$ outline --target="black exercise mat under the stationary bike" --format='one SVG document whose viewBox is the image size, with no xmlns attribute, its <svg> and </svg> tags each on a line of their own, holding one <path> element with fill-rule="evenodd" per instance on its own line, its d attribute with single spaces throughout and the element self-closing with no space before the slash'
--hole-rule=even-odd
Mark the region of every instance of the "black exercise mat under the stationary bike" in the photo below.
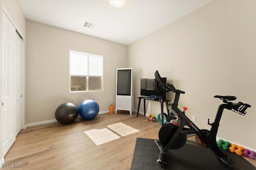
<svg viewBox="0 0 256 170">
<path fill-rule="evenodd" d="M 159 165 L 160 150 L 154 139 L 137 138 L 132 158 L 131 170 L 231 170 L 220 161 L 209 148 L 185 144 L 177 150 L 169 150 L 166 166 Z M 236 164 L 244 170 L 256 170 L 247 160 L 229 151 L 225 151 Z"/>
</svg>

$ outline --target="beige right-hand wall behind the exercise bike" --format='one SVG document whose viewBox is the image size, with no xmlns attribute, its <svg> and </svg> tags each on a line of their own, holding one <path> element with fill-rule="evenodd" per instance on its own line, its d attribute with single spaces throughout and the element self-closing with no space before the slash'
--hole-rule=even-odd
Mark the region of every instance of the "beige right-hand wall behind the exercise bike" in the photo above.
<svg viewBox="0 0 256 170">
<path fill-rule="evenodd" d="M 158 70 L 168 83 L 186 93 L 179 107 L 210 130 L 222 102 L 214 95 L 234 95 L 252 105 L 245 116 L 225 110 L 218 137 L 256 149 L 256 1 L 217 0 L 128 45 L 128 67 L 134 69 L 134 109 L 140 78 Z M 173 102 L 174 95 L 168 93 Z M 140 107 L 143 112 L 143 107 Z M 166 111 L 166 109 L 165 109 Z M 147 103 L 158 115 L 160 104 Z"/>
</svg>

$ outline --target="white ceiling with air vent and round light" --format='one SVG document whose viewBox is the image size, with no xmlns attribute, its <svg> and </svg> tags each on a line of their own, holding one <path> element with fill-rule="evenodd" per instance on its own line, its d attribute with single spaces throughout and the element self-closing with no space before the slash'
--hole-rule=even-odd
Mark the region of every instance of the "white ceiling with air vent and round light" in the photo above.
<svg viewBox="0 0 256 170">
<path fill-rule="evenodd" d="M 18 0 L 26 19 L 128 45 L 212 0 Z M 96 24 L 84 27 L 85 21 Z"/>
</svg>

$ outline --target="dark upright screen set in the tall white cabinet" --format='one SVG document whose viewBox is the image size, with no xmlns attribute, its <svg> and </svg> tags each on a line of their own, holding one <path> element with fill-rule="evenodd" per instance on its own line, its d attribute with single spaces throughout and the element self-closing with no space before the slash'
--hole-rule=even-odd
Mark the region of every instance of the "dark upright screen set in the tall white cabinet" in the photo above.
<svg viewBox="0 0 256 170">
<path fill-rule="evenodd" d="M 117 95 L 131 95 L 131 69 L 118 70 Z"/>
</svg>

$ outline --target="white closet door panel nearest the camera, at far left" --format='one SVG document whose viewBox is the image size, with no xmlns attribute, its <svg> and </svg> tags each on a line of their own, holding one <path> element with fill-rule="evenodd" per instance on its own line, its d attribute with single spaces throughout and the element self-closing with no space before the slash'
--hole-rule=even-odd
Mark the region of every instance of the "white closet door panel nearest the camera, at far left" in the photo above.
<svg viewBox="0 0 256 170">
<path fill-rule="evenodd" d="M 15 34 L 16 29 L 3 12 L 3 61 L 2 61 L 2 127 L 3 156 L 16 139 L 16 65 L 15 65 Z"/>
</svg>

